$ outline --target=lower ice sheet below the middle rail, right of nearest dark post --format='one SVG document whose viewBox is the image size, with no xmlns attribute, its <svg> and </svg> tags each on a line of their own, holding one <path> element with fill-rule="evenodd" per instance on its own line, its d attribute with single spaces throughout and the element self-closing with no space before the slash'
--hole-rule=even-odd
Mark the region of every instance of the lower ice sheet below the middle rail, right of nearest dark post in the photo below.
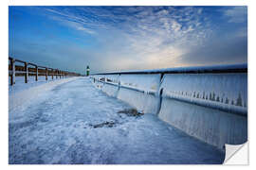
<svg viewBox="0 0 256 170">
<path fill-rule="evenodd" d="M 189 135 L 224 149 L 247 142 L 247 117 L 164 98 L 159 118 Z"/>
</svg>

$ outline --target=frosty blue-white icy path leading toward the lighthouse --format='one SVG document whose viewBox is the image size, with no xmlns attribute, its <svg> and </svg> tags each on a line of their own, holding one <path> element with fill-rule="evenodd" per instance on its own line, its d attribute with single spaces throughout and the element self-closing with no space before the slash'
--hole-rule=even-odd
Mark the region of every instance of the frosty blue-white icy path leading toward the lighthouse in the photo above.
<svg viewBox="0 0 256 170">
<path fill-rule="evenodd" d="M 153 114 L 118 113 L 130 108 L 86 77 L 58 84 L 9 110 L 9 163 L 223 162 L 223 153 Z"/>
</svg>

